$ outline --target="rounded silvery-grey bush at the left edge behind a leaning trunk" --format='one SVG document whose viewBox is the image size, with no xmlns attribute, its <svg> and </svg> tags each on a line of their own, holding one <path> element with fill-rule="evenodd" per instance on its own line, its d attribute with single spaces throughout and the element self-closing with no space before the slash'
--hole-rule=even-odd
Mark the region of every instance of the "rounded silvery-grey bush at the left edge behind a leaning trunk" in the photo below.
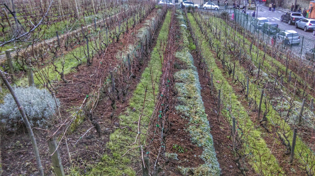
<svg viewBox="0 0 315 176">
<path fill-rule="evenodd" d="M 19 87 L 14 88 L 14 91 L 31 126 L 47 128 L 56 110 L 56 103 L 51 94 L 45 89 L 35 87 Z M 5 95 L 3 102 L 0 104 L 1 123 L 6 126 L 7 130 L 17 130 L 23 120 L 12 95 L 10 93 Z M 58 99 L 57 104 L 60 104 Z"/>
</svg>

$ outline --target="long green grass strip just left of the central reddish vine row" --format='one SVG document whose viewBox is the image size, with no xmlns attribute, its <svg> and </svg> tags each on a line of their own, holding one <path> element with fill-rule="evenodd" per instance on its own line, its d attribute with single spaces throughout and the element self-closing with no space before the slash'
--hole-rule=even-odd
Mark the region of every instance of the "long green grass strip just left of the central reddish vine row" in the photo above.
<svg viewBox="0 0 315 176">
<path fill-rule="evenodd" d="M 164 36 L 168 35 L 169 23 L 170 20 L 170 13 L 168 12 L 165 18 L 165 22 L 163 23 L 162 29 L 158 35 L 158 43 L 157 46 L 161 45 L 161 39 Z M 154 50 L 151 52 L 151 64 L 153 68 L 154 80 L 156 79 L 159 82 L 159 78 L 161 75 L 161 60 L 159 56 L 159 52 L 157 48 L 154 47 Z M 146 67 L 144 72 L 141 75 L 141 83 L 139 83 L 133 93 L 132 98 L 130 99 L 130 108 L 126 111 L 125 114 L 129 115 L 120 115 L 120 125 L 126 126 L 128 125 L 133 130 L 136 130 L 137 125 L 134 124 L 134 121 L 137 121 L 139 118 L 140 110 L 142 109 L 144 95 L 145 95 L 145 87 L 143 85 L 148 85 L 147 92 L 152 92 L 152 83 L 151 83 L 151 74 L 150 68 Z M 151 86 L 150 86 L 151 85 Z M 155 93 L 158 92 L 158 89 L 155 89 Z M 150 116 L 154 109 L 154 97 L 152 93 L 146 94 L 146 101 L 145 101 L 145 109 L 143 110 L 143 114 Z M 131 109 L 135 108 L 136 111 L 132 111 Z M 147 125 L 149 122 L 148 118 L 143 118 L 141 123 L 143 125 Z M 145 131 L 143 131 L 145 132 Z M 123 132 L 123 130 L 115 130 L 110 135 L 110 140 L 107 143 L 107 148 L 109 149 L 109 153 L 102 157 L 102 161 L 99 162 L 96 166 L 93 166 L 91 171 L 87 173 L 90 176 L 96 175 L 136 175 L 133 168 L 130 166 L 132 162 L 139 162 L 138 161 L 138 154 L 135 151 L 128 152 L 124 157 L 122 155 L 133 146 L 129 146 L 130 143 L 133 143 L 135 140 L 135 134 Z M 135 153 L 134 153 L 135 152 Z"/>
</svg>

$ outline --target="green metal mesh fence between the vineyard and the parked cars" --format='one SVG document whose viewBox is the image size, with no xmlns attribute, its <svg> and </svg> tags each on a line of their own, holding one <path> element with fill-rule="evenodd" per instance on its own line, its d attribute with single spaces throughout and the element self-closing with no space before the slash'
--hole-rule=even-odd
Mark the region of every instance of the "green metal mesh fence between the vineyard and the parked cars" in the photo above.
<svg viewBox="0 0 315 176">
<path fill-rule="evenodd" d="M 311 49 L 315 48 L 315 40 L 298 34 L 291 34 L 289 38 L 285 40 L 285 37 L 280 35 L 282 32 L 286 31 L 285 29 L 264 24 L 255 17 L 242 13 L 242 11 L 238 9 L 234 9 L 233 12 L 236 23 L 240 24 L 252 34 L 258 35 L 259 39 L 265 41 L 266 44 L 274 45 L 281 51 L 289 50 L 291 51 L 290 53 L 294 54 L 296 57 L 311 61 L 314 60 L 314 52 L 313 50 L 311 51 Z"/>
</svg>

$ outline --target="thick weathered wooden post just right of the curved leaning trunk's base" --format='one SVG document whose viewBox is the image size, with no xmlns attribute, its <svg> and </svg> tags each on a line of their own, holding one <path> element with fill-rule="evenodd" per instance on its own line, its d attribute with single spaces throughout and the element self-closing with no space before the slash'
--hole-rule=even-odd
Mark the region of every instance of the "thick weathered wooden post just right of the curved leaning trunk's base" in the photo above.
<svg viewBox="0 0 315 176">
<path fill-rule="evenodd" d="M 54 167 L 54 172 L 56 173 L 57 176 L 65 176 L 55 137 L 54 136 L 50 137 L 47 142 L 49 153 L 51 155 L 51 160 Z"/>
</svg>

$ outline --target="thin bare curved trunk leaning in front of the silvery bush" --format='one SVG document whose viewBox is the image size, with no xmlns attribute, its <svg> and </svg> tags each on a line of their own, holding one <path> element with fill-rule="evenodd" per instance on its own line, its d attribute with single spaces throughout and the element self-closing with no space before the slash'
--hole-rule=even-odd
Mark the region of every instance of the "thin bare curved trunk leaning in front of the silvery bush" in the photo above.
<svg viewBox="0 0 315 176">
<path fill-rule="evenodd" d="M 12 3 L 13 3 L 13 0 L 12 0 Z M 33 134 L 30 122 L 28 121 L 28 119 L 26 117 L 26 114 L 24 112 L 24 108 L 23 108 L 23 106 L 21 106 L 19 99 L 17 98 L 17 96 L 16 96 L 13 88 L 9 84 L 8 80 L 4 77 L 2 71 L 0 71 L 0 77 L 3 80 L 4 84 L 7 86 L 7 88 L 9 89 L 9 91 L 10 91 L 10 93 L 11 93 L 11 95 L 12 95 L 12 97 L 13 97 L 15 103 L 16 103 L 16 105 L 18 106 L 18 109 L 19 109 L 19 111 L 20 111 L 20 113 L 22 115 L 22 119 L 23 119 L 23 121 L 24 121 L 24 123 L 26 125 L 26 129 L 28 131 L 28 134 L 30 135 L 30 138 L 31 138 L 31 143 L 32 143 L 33 149 L 34 149 L 34 154 L 35 154 L 35 158 L 36 158 L 38 171 L 39 171 L 41 176 L 44 176 L 43 166 L 42 166 L 42 162 L 40 160 L 36 139 L 35 139 L 35 136 Z"/>
</svg>

